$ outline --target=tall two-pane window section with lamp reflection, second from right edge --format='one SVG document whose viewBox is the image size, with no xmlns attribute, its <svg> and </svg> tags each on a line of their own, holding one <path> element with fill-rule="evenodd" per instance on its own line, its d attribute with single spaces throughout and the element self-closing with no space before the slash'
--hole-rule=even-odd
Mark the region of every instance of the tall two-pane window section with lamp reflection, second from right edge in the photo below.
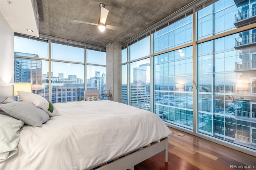
<svg viewBox="0 0 256 170">
<path fill-rule="evenodd" d="M 192 15 L 153 34 L 154 53 L 192 42 Z M 192 46 L 154 56 L 154 113 L 193 128 Z"/>
</svg>

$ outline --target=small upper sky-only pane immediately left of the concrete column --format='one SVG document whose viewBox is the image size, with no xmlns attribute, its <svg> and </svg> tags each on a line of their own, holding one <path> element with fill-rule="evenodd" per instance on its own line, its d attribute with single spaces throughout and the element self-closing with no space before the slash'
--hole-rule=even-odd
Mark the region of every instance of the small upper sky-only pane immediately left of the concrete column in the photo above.
<svg viewBox="0 0 256 170">
<path fill-rule="evenodd" d="M 95 50 L 86 50 L 86 62 L 90 64 L 106 65 L 106 53 Z"/>
</svg>

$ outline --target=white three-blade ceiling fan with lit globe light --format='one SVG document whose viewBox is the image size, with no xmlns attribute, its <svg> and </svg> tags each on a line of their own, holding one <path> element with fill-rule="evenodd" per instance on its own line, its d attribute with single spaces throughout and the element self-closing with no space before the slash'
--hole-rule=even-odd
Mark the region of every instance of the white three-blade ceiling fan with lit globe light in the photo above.
<svg viewBox="0 0 256 170">
<path fill-rule="evenodd" d="M 105 8 L 105 4 L 103 4 L 103 3 L 100 3 L 99 6 L 100 6 L 100 19 L 99 19 L 98 24 L 94 24 L 91 22 L 78 21 L 78 20 L 73 20 L 73 22 L 98 26 L 98 29 L 100 30 L 100 32 L 104 32 L 106 28 L 111 29 L 111 30 L 120 31 L 120 32 L 126 32 L 127 28 L 106 25 L 105 23 L 106 23 L 106 19 L 108 17 L 108 10 Z"/>
</svg>

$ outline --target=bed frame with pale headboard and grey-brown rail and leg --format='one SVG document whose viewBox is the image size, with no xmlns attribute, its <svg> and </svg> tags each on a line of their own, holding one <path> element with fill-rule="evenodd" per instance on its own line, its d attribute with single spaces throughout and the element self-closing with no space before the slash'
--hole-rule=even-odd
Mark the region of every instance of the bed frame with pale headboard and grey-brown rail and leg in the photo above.
<svg viewBox="0 0 256 170">
<path fill-rule="evenodd" d="M 4 101 L 7 97 L 13 99 L 13 86 L 0 86 L 0 102 Z M 147 146 L 138 148 L 133 152 L 119 156 L 114 160 L 110 160 L 102 165 L 90 168 L 91 170 L 133 170 L 134 166 L 159 152 L 165 152 L 165 162 L 168 162 L 168 144 L 169 139 L 163 138 L 160 142 L 153 142 Z"/>
</svg>

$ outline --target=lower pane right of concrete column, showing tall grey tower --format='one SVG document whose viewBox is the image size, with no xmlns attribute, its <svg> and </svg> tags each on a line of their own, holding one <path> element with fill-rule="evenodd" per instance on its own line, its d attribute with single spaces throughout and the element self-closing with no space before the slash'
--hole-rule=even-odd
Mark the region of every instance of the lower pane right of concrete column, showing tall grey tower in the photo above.
<svg viewBox="0 0 256 170">
<path fill-rule="evenodd" d="M 150 59 L 130 64 L 130 105 L 150 111 Z"/>
</svg>

